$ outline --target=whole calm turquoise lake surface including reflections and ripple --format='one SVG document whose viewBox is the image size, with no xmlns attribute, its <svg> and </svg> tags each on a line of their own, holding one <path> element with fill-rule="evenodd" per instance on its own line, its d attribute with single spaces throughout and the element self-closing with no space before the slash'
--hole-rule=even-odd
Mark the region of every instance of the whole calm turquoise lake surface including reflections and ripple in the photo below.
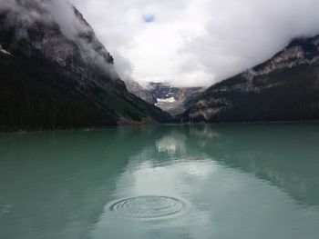
<svg viewBox="0 0 319 239">
<path fill-rule="evenodd" d="M 1 239 L 317 239 L 319 124 L 0 134 Z"/>
</svg>

